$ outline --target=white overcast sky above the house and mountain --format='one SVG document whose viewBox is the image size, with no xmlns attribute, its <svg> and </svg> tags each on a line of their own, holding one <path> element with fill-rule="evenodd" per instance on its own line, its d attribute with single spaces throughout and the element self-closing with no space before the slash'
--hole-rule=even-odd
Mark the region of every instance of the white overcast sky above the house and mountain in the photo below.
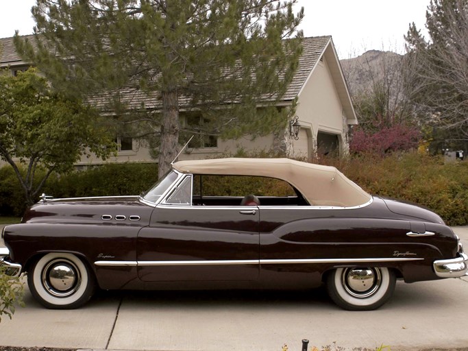
<svg viewBox="0 0 468 351">
<path fill-rule="evenodd" d="M 404 34 L 415 22 L 426 23 L 430 0 L 299 0 L 305 18 L 305 36 L 331 35 L 339 58 L 351 58 L 367 50 L 404 52 Z M 32 34 L 31 7 L 35 0 L 0 0 L 0 38 Z"/>
</svg>

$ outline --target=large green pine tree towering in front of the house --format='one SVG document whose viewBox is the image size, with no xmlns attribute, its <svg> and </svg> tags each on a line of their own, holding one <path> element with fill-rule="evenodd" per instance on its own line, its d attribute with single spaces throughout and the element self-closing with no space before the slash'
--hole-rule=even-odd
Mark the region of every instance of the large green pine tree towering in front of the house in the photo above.
<svg viewBox="0 0 468 351">
<path fill-rule="evenodd" d="M 147 138 L 162 175 L 187 134 L 286 126 L 292 112 L 276 106 L 301 54 L 296 2 L 37 0 L 35 41 L 16 35 L 15 45 L 55 88 L 86 95 L 119 117 L 121 133 Z M 181 125 L 181 111 L 197 126 Z"/>
</svg>

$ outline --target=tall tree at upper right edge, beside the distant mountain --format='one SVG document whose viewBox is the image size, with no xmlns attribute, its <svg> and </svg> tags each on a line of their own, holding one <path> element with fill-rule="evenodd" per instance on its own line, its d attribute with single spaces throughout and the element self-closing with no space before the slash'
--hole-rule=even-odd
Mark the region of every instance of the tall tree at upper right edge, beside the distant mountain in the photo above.
<svg viewBox="0 0 468 351">
<path fill-rule="evenodd" d="M 408 51 L 406 95 L 426 124 L 445 129 L 452 139 L 466 142 L 468 1 L 430 1 L 426 27 L 428 38 L 414 23 L 405 36 Z"/>
</svg>

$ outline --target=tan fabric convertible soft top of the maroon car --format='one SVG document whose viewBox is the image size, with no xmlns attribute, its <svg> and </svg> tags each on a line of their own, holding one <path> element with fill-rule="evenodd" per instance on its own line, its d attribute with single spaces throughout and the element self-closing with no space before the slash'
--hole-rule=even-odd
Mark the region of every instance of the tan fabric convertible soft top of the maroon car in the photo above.
<svg viewBox="0 0 468 351">
<path fill-rule="evenodd" d="M 335 167 L 314 165 L 288 158 L 219 158 L 187 160 L 173 164 L 182 173 L 258 175 L 278 178 L 293 185 L 315 206 L 352 207 L 366 204 L 371 195 Z"/>
</svg>

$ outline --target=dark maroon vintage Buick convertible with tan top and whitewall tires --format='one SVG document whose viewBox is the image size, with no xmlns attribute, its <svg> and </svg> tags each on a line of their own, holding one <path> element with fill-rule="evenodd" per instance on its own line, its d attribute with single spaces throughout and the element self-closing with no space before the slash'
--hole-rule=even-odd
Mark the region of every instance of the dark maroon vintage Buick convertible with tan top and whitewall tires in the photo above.
<svg viewBox="0 0 468 351">
<path fill-rule="evenodd" d="M 4 228 L 1 265 L 48 308 L 101 289 L 310 289 L 378 308 L 395 280 L 456 278 L 441 217 L 371 196 L 334 167 L 285 158 L 175 162 L 134 197 L 48 199 Z"/>
</svg>

